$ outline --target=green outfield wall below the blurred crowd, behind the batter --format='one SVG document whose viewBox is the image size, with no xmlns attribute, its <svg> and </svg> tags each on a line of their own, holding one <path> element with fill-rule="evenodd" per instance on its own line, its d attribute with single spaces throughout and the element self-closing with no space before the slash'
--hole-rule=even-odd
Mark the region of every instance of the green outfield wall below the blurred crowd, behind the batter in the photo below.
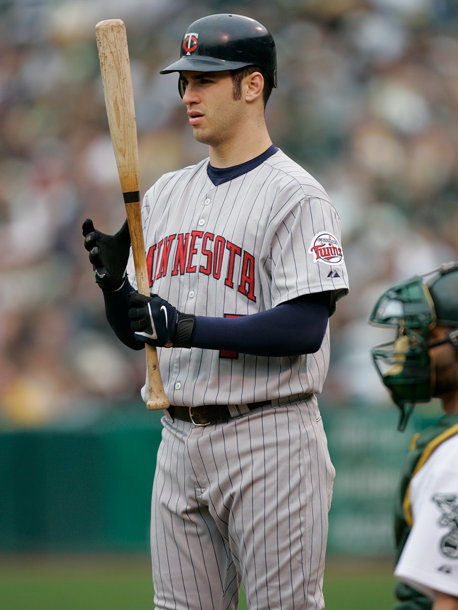
<svg viewBox="0 0 458 610">
<path fill-rule="evenodd" d="M 392 551 L 398 469 L 413 432 L 393 407 L 321 406 L 337 476 L 330 553 Z M 435 414 L 432 414 L 435 416 Z M 145 551 L 160 414 L 129 404 L 91 422 L 0 431 L 0 551 Z"/>
</svg>

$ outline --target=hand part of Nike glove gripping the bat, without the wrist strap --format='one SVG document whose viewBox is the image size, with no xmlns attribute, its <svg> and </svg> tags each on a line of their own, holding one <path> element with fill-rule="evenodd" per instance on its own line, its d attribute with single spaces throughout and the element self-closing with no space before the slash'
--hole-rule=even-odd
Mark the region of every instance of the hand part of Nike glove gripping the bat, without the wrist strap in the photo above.
<svg viewBox="0 0 458 610">
<path fill-rule="evenodd" d="M 130 292 L 129 320 L 135 339 L 156 347 L 171 347 L 176 334 L 178 311 L 159 295 Z"/>
</svg>

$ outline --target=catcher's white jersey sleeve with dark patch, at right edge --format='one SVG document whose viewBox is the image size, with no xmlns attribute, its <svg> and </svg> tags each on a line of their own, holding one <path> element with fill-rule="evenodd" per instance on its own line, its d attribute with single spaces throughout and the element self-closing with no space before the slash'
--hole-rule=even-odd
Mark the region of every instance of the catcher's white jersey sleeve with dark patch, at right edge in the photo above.
<svg viewBox="0 0 458 610">
<path fill-rule="evenodd" d="M 458 597 L 458 435 L 445 440 L 413 476 L 413 527 L 395 576 L 434 598 Z"/>
</svg>

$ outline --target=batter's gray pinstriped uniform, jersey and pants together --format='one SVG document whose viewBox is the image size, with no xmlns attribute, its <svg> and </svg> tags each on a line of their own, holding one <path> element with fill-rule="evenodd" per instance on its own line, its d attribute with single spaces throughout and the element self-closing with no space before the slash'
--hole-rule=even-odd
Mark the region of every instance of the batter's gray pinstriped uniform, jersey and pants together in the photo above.
<svg viewBox="0 0 458 610">
<path fill-rule="evenodd" d="M 309 173 L 277 151 L 215 187 L 207 163 L 165 174 L 145 195 L 153 292 L 210 317 L 348 292 L 340 219 Z M 127 271 L 135 285 L 132 258 Z M 229 404 L 237 417 L 204 428 L 163 417 L 151 520 L 157 608 L 237 608 L 240 579 L 249 608 L 324 608 L 334 468 L 315 394 L 329 325 L 321 349 L 298 357 L 158 353 L 171 404 Z M 272 406 L 245 406 L 265 400 Z"/>
</svg>

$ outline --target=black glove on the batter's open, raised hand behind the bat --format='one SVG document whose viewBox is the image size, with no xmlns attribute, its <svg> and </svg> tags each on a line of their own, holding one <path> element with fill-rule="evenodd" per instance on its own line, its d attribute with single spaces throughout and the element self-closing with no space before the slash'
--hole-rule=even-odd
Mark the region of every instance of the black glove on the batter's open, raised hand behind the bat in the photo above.
<svg viewBox="0 0 458 610">
<path fill-rule="evenodd" d="M 103 290 L 119 290 L 126 278 L 131 235 L 127 220 L 115 235 L 107 235 L 94 228 L 87 218 L 83 223 L 84 247 L 95 273 L 95 281 Z"/>
</svg>

